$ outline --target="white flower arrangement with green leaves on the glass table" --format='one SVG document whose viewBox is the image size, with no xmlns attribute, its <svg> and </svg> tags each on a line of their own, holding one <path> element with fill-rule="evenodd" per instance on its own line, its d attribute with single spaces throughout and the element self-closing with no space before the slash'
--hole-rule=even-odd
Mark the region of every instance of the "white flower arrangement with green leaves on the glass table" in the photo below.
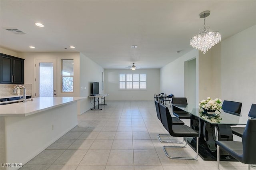
<svg viewBox="0 0 256 170">
<path fill-rule="evenodd" d="M 205 111 L 214 111 L 214 113 L 220 114 L 220 109 L 222 109 L 222 107 L 220 106 L 220 104 L 222 103 L 222 100 L 220 100 L 219 98 L 216 99 L 211 99 L 210 97 L 207 97 L 206 100 L 202 100 L 199 103 L 199 109 L 200 112 Z"/>
</svg>

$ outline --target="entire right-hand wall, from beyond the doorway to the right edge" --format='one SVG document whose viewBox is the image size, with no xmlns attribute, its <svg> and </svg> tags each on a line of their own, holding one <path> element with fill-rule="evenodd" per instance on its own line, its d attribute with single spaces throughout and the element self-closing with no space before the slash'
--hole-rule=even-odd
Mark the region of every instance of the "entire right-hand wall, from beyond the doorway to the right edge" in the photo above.
<svg viewBox="0 0 256 170">
<path fill-rule="evenodd" d="M 248 115 L 256 103 L 256 26 L 214 45 L 206 54 L 193 49 L 160 69 L 160 91 L 184 96 L 184 61 L 196 56 L 197 99 L 210 96 L 242 102 Z"/>
</svg>

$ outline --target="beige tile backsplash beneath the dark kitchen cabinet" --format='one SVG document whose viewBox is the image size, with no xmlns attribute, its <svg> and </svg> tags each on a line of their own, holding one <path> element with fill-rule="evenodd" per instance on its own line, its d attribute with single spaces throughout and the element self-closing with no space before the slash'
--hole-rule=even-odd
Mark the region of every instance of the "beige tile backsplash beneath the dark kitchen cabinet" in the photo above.
<svg viewBox="0 0 256 170">
<path fill-rule="evenodd" d="M 15 84 L 0 84 L 0 96 L 14 95 L 12 93 Z M 26 88 L 26 95 L 32 95 L 32 84 L 24 84 Z M 23 94 L 23 89 L 20 90 L 20 94 Z"/>
</svg>

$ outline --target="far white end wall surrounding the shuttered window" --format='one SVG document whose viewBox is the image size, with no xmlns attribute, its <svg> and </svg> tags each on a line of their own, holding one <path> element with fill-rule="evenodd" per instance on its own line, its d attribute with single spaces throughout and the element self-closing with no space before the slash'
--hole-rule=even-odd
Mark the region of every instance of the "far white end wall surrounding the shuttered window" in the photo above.
<svg viewBox="0 0 256 170">
<path fill-rule="evenodd" d="M 146 89 L 119 89 L 119 74 L 146 74 Z M 159 94 L 159 69 L 105 69 L 108 100 L 152 100 Z"/>
</svg>

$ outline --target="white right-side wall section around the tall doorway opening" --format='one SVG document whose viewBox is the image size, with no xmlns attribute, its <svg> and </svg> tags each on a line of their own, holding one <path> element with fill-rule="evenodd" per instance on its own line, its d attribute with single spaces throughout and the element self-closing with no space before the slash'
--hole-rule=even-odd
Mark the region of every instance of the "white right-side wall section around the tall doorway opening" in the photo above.
<svg viewBox="0 0 256 170">
<path fill-rule="evenodd" d="M 160 69 L 160 92 L 166 95 L 174 94 L 174 97 L 184 97 L 184 62 L 194 58 L 196 58 L 197 62 L 198 50 L 196 49 L 193 49 L 182 57 L 162 67 Z M 197 68 L 196 82 L 198 82 Z M 198 96 L 198 83 L 196 84 L 196 95 Z M 198 99 L 196 99 L 196 101 L 198 101 Z"/>
</svg>

